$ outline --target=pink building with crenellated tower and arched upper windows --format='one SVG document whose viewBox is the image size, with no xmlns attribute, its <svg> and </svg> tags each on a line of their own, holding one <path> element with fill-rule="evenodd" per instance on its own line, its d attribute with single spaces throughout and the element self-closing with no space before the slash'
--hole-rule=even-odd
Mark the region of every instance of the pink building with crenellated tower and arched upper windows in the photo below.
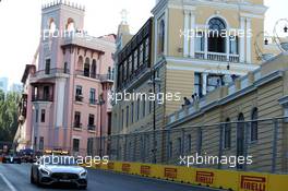
<svg viewBox="0 0 288 191">
<path fill-rule="evenodd" d="M 19 150 L 86 155 L 95 150 L 93 138 L 110 131 L 116 36 L 84 33 L 84 12 L 62 1 L 43 7 L 38 64 L 24 74 L 29 115 L 20 127 L 25 134 L 15 138 L 26 139 Z"/>
</svg>

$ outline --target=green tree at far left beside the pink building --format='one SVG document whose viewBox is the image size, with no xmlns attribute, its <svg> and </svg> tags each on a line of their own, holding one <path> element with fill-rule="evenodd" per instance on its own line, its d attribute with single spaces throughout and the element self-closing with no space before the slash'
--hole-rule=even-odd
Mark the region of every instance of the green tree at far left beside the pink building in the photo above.
<svg viewBox="0 0 288 191">
<path fill-rule="evenodd" d="M 17 130 L 20 94 L 0 92 L 0 141 L 12 142 Z"/>
</svg>

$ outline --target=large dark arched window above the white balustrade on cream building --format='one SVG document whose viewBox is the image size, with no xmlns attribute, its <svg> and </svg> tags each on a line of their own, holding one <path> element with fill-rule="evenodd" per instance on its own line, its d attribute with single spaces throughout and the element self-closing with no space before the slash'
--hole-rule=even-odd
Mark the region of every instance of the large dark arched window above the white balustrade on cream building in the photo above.
<svg viewBox="0 0 288 191">
<path fill-rule="evenodd" d="M 208 51 L 226 52 L 226 38 L 223 37 L 226 33 L 226 24 L 219 17 L 214 17 L 208 22 Z"/>
</svg>

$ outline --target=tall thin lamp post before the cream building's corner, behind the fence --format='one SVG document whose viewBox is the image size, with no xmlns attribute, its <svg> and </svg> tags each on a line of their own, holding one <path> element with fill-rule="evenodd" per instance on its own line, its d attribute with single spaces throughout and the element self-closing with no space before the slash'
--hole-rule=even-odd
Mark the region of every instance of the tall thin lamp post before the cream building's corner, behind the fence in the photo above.
<svg viewBox="0 0 288 191">
<path fill-rule="evenodd" d="M 156 85 L 160 83 L 161 80 L 157 76 L 156 70 L 152 70 L 151 80 L 148 81 L 148 84 L 153 86 L 154 95 L 156 95 Z M 152 150 L 154 164 L 156 164 L 157 162 L 156 151 L 157 148 L 156 148 L 156 98 L 155 98 L 153 104 L 153 150 Z"/>
</svg>

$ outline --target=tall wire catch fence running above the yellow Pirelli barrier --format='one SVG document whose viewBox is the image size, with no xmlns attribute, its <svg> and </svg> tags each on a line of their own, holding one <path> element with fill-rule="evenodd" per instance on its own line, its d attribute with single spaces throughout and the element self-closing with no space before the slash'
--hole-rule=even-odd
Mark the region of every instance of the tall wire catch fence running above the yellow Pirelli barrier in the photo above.
<svg viewBox="0 0 288 191">
<path fill-rule="evenodd" d="M 95 138 L 87 153 L 118 162 L 287 174 L 287 121 L 275 118 Z"/>
</svg>

